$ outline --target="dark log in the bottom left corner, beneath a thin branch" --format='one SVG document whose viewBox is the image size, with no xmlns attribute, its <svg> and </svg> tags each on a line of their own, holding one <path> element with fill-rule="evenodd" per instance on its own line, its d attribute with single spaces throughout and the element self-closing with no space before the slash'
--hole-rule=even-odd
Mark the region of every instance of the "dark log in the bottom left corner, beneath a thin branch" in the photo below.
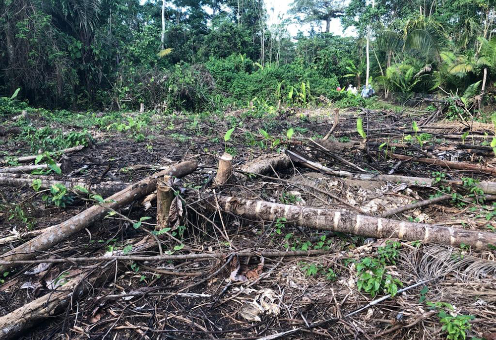
<svg viewBox="0 0 496 340">
<path fill-rule="evenodd" d="M 156 246 L 157 242 L 153 237 L 147 236 L 134 243 L 130 253 L 143 252 Z M 117 252 L 114 255 L 119 256 L 122 253 Z M 75 304 L 90 291 L 114 280 L 116 270 L 119 270 L 119 267 L 115 261 L 112 261 L 98 266 L 94 271 L 83 271 L 55 291 L 0 317 L 0 340 L 18 339 L 20 333 L 25 332 L 35 324 L 63 313 L 67 307 Z M 122 267 L 121 263 L 121 269 Z"/>
</svg>

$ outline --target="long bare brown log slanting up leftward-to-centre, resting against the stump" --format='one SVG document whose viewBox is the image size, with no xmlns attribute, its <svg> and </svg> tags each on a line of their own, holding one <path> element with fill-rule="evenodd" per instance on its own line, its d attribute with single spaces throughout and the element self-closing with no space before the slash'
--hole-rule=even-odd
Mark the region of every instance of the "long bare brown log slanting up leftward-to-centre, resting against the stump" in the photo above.
<svg viewBox="0 0 496 340">
<path fill-rule="evenodd" d="M 196 162 L 185 161 L 130 185 L 126 189 L 107 198 L 102 205 L 95 204 L 60 223 L 56 228 L 51 228 L 46 233 L 7 252 L 2 256 L 2 259 L 7 261 L 32 259 L 36 256 L 37 252 L 49 249 L 79 230 L 84 229 L 87 225 L 103 218 L 108 212 L 106 207 L 119 209 L 153 192 L 157 187 L 158 178 L 163 176 L 183 177 L 196 170 L 196 167 Z M 5 269 L 5 266 L 0 267 L 0 272 Z"/>
</svg>

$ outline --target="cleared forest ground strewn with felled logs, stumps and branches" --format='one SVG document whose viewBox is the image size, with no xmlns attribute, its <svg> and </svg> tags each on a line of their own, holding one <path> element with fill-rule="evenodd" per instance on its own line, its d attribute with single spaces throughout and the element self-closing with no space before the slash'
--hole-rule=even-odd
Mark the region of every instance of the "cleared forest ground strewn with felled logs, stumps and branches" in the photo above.
<svg viewBox="0 0 496 340">
<path fill-rule="evenodd" d="M 13 118 L 1 339 L 494 337 L 490 125 L 385 109 Z"/>
</svg>

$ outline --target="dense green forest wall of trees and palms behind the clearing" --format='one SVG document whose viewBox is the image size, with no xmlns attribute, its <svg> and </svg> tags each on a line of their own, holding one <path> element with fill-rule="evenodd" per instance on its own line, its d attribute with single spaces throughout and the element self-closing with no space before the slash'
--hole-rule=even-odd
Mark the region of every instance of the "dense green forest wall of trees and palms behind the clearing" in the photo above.
<svg viewBox="0 0 496 340">
<path fill-rule="evenodd" d="M 68 109 L 305 104 L 365 84 L 369 60 L 376 91 L 469 100 L 496 80 L 495 4 L 295 0 L 269 25 L 263 0 L 4 0 L 0 94 Z M 357 37 L 328 33 L 333 18 Z M 292 37 L 288 20 L 312 28 Z"/>
</svg>

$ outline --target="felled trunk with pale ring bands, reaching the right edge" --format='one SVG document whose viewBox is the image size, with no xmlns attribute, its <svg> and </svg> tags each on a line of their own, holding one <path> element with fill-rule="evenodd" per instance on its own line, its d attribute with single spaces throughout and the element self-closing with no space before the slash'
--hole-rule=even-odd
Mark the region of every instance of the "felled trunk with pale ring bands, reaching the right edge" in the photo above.
<svg viewBox="0 0 496 340">
<path fill-rule="evenodd" d="M 456 247 L 465 244 L 475 249 L 483 249 L 488 248 L 489 245 L 496 245 L 496 233 L 485 231 L 403 222 L 340 210 L 244 200 L 228 196 L 219 196 L 218 202 L 225 211 L 249 219 L 261 218 L 266 221 L 273 221 L 276 218 L 284 217 L 302 227 L 374 238 L 398 238 L 406 241 L 420 240 Z"/>
</svg>

